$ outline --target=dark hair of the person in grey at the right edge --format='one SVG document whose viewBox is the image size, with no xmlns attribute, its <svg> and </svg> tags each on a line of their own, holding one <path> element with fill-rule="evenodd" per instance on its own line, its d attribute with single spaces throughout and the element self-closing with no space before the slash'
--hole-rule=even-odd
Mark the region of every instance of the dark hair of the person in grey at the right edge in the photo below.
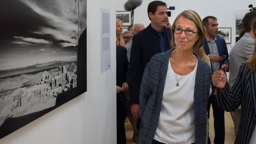
<svg viewBox="0 0 256 144">
<path fill-rule="evenodd" d="M 256 20 L 256 11 L 251 11 L 245 14 L 242 23 L 244 26 L 245 33 L 251 31 L 251 26 Z"/>
</svg>

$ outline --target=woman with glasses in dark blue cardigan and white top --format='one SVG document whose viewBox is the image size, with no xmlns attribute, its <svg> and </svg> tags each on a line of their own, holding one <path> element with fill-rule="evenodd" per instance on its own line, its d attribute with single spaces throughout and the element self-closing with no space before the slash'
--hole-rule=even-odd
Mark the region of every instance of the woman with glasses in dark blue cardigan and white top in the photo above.
<svg viewBox="0 0 256 144">
<path fill-rule="evenodd" d="M 172 50 L 156 54 L 140 85 L 139 143 L 206 143 L 212 72 L 194 53 L 203 46 L 199 14 L 187 10 L 172 25 Z M 171 127 L 171 128 L 170 128 Z"/>
</svg>

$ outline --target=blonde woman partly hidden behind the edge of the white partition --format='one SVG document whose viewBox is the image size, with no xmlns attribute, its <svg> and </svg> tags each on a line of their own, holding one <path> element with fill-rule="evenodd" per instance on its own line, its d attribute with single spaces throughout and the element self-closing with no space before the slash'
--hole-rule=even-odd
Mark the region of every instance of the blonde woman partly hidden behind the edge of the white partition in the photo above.
<svg viewBox="0 0 256 144">
<path fill-rule="evenodd" d="M 124 46 L 123 40 L 123 21 L 120 19 L 116 20 L 116 45 Z"/>
</svg>

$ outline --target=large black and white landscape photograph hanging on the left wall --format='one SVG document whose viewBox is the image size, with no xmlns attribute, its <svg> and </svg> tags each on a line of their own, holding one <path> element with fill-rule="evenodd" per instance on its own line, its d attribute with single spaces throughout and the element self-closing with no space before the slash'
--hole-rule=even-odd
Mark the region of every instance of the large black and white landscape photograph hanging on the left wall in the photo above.
<svg viewBox="0 0 256 144">
<path fill-rule="evenodd" d="M 87 91 L 87 1 L 0 3 L 2 138 Z"/>
</svg>

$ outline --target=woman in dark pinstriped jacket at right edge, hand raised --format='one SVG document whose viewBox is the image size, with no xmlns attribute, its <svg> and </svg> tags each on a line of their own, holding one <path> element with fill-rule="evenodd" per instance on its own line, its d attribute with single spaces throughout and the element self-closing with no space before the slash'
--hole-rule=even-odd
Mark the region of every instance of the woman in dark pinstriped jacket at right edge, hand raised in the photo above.
<svg viewBox="0 0 256 144">
<path fill-rule="evenodd" d="M 256 31 L 256 21 L 252 25 Z M 256 34 L 254 33 L 254 39 Z M 212 81 L 217 89 L 216 99 L 226 111 L 235 111 L 241 105 L 241 117 L 235 144 L 256 142 L 256 43 L 252 58 L 242 63 L 238 77 L 229 88 L 225 73 L 220 70 L 213 74 Z"/>
</svg>

